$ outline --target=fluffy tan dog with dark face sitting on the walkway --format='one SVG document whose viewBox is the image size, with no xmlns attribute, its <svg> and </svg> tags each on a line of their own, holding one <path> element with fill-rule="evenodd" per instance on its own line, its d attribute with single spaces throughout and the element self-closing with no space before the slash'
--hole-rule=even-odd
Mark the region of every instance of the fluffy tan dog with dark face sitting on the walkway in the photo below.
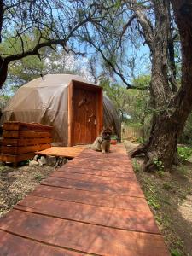
<svg viewBox="0 0 192 256">
<path fill-rule="evenodd" d="M 102 151 L 103 154 L 110 152 L 111 136 L 113 134 L 112 127 L 104 127 L 102 133 L 96 138 L 90 148 L 96 151 Z"/>
</svg>

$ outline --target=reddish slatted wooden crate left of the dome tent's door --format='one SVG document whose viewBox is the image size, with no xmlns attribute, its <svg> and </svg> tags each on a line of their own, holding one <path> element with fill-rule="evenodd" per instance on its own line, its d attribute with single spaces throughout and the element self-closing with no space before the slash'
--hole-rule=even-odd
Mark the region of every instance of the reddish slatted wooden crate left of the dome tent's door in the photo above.
<svg viewBox="0 0 192 256">
<path fill-rule="evenodd" d="M 51 148 L 52 129 L 36 123 L 4 123 L 1 160 L 17 163 L 32 158 L 36 151 Z"/>
</svg>

